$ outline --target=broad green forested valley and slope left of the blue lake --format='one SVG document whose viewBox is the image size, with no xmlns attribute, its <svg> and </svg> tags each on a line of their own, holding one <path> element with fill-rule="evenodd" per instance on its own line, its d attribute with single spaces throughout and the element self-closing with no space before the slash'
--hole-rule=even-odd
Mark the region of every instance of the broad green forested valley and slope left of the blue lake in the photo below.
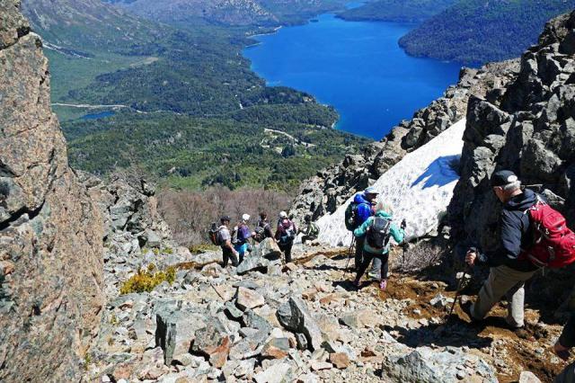
<svg viewBox="0 0 575 383">
<path fill-rule="evenodd" d="M 241 55 L 250 28 L 177 30 L 97 0 L 24 3 L 45 38 L 76 167 L 137 168 L 165 186 L 288 190 L 367 143 L 331 129 L 337 113 L 312 96 L 267 87 Z"/>
</svg>

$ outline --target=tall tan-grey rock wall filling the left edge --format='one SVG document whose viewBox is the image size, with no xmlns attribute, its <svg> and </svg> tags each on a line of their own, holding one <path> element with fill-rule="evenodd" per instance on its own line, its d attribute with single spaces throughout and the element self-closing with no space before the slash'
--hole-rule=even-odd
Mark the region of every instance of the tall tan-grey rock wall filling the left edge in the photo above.
<svg viewBox="0 0 575 383">
<path fill-rule="evenodd" d="M 67 165 L 19 7 L 0 0 L 0 380 L 71 381 L 103 305 L 102 218 Z"/>
</svg>

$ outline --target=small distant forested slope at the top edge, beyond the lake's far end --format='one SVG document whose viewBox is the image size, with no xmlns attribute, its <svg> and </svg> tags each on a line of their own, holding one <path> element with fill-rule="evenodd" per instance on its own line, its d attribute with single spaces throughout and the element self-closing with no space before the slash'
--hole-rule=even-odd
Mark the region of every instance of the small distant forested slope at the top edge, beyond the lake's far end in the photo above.
<svg viewBox="0 0 575 383">
<path fill-rule="evenodd" d="M 339 13 L 349 21 L 422 22 L 445 10 L 456 0 L 376 0 Z"/>
</svg>

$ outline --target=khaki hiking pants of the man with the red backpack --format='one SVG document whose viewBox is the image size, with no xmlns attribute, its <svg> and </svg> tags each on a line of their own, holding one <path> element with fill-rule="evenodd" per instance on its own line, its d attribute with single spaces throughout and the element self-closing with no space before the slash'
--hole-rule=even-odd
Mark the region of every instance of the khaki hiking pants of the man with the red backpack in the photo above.
<svg viewBox="0 0 575 383">
<path fill-rule="evenodd" d="M 536 271 L 535 271 L 536 272 Z M 523 305 L 525 302 L 525 282 L 535 272 L 517 272 L 509 266 L 492 267 L 489 278 L 483 283 L 477 300 L 471 307 L 475 319 L 483 319 L 491 307 L 495 306 L 503 296 L 508 299 L 507 323 L 512 327 L 522 327 L 524 323 Z"/>
</svg>

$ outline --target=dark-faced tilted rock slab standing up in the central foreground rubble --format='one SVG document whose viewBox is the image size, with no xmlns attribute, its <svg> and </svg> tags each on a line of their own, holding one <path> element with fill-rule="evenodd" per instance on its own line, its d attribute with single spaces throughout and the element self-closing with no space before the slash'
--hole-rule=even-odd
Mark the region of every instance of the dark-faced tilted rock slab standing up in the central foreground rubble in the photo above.
<svg viewBox="0 0 575 383">
<path fill-rule="evenodd" d="M 322 347 L 322 332 L 302 298 L 289 298 L 288 302 L 279 307 L 277 316 L 279 323 L 289 331 L 305 334 L 307 344 L 312 350 Z"/>
</svg>

